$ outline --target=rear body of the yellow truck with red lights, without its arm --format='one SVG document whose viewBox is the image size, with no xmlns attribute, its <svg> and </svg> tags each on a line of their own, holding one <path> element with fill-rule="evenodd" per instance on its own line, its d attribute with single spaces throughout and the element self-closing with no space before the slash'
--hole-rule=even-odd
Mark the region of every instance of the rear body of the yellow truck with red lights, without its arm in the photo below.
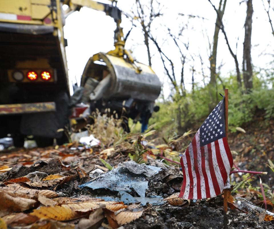
<svg viewBox="0 0 274 229">
<path fill-rule="evenodd" d="M 0 1 L 0 138 L 15 146 L 62 142 L 68 120 L 68 69 L 61 0 Z"/>
</svg>

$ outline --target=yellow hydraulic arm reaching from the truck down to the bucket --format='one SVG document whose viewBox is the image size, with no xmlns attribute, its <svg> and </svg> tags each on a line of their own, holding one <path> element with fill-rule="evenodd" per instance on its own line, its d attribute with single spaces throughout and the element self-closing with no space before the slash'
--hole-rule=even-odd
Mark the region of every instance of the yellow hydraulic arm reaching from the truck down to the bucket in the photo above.
<svg viewBox="0 0 274 229">
<path fill-rule="evenodd" d="M 112 5 L 100 3 L 92 0 L 65 0 L 64 4 L 68 5 L 68 10 L 65 12 L 69 14 L 73 11 L 80 10 L 80 8 L 88 7 L 98 11 L 103 11 L 106 15 L 112 17 L 117 25 L 114 31 L 114 50 L 109 51 L 107 54 L 117 57 L 124 57 L 126 55 L 128 60 L 135 65 L 136 71 L 141 72 L 142 69 L 136 65 L 136 59 L 131 55 L 130 51 L 126 50 L 123 29 L 120 27 L 121 23 L 121 10 L 116 7 L 117 1 L 112 1 Z M 115 5 L 114 5 L 115 3 Z"/>
</svg>

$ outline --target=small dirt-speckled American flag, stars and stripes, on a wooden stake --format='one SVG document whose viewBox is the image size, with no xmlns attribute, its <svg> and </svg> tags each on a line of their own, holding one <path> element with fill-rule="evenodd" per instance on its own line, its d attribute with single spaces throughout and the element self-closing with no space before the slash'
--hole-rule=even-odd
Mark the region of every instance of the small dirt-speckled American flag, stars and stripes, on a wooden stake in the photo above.
<svg viewBox="0 0 274 229">
<path fill-rule="evenodd" d="M 180 162 L 184 180 L 179 197 L 203 199 L 223 191 L 233 164 L 225 137 L 224 98 L 199 128 Z"/>
</svg>

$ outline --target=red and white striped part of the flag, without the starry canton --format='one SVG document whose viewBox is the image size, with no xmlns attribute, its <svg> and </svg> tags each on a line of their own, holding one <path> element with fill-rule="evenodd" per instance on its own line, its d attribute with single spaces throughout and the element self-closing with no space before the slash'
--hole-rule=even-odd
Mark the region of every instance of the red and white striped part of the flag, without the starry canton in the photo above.
<svg viewBox="0 0 274 229">
<path fill-rule="evenodd" d="M 179 197 L 195 200 L 223 191 L 233 158 L 225 137 L 201 147 L 199 129 L 180 162 L 184 180 Z"/>
</svg>

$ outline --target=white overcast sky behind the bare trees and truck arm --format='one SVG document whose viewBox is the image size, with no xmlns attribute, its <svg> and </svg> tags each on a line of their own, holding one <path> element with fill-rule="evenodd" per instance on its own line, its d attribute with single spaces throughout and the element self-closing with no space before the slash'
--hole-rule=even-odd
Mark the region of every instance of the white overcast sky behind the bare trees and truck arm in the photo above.
<svg viewBox="0 0 274 229">
<path fill-rule="evenodd" d="M 185 66 L 185 81 L 187 89 L 191 89 L 191 71 L 190 66 L 193 65 L 190 54 L 194 56 L 194 68 L 195 81 L 201 82 L 201 63 L 198 58 L 201 54 L 206 74 L 209 75 L 209 61 L 208 61 L 208 39 L 212 42 L 213 32 L 215 27 L 216 14 L 212 6 L 207 0 L 159 0 L 162 5 L 163 15 L 157 18 L 152 23 L 152 34 L 157 38 L 157 41 L 162 46 L 163 51 L 174 61 L 176 66 L 176 75 L 180 77 L 180 54 L 176 49 L 173 42 L 168 39 L 166 27 L 169 27 L 174 34 L 178 34 L 178 31 L 182 26 L 188 29 L 184 30 L 183 36 L 180 38 L 182 42 L 189 41 L 189 50 L 183 49 L 187 56 L 187 63 Z M 108 2 L 108 1 L 103 1 Z M 144 0 L 141 2 L 148 2 Z M 219 4 L 218 0 L 212 0 L 216 6 Z M 234 52 L 236 52 L 241 69 L 242 62 L 242 49 L 244 39 L 243 25 L 245 23 L 246 16 L 246 3 L 239 4 L 240 1 L 233 0 L 227 1 L 225 14 L 223 17 L 223 24 L 229 39 L 229 43 Z M 129 13 L 132 10 L 134 0 L 118 0 L 117 6 L 122 11 Z M 261 55 L 261 53 L 273 53 L 274 37 L 271 34 L 271 27 L 268 22 L 267 14 L 264 11 L 261 0 L 253 0 L 253 28 L 252 28 L 252 63 L 255 67 L 269 67 L 268 63 L 273 59 L 270 55 Z M 273 11 L 272 11 L 273 12 Z M 272 13 L 271 12 L 271 13 Z M 184 15 L 198 15 L 205 19 L 189 18 L 188 16 L 178 16 L 178 14 Z M 273 14 L 273 13 L 272 13 Z M 274 15 L 273 16 L 274 19 Z M 135 23 L 138 25 L 138 23 Z M 129 19 L 122 16 L 122 27 L 124 28 L 124 34 L 132 27 Z M 78 83 L 80 83 L 80 77 L 82 75 L 84 66 L 87 60 L 93 54 L 98 52 L 108 52 L 114 49 L 113 35 L 116 25 L 114 20 L 106 16 L 104 12 L 98 12 L 93 9 L 83 7 L 79 12 L 74 12 L 66 19 L 66 25 L 64 27 L 65 38 L 68 39 L 68 47 L 66 47 L 69 77 L 71 82 L 75 82 L 75 77 Z M 238 40 L 239 38 L 239 40 Z M 132 49 L 133 55 L 139 62 L 148 64 L 148 57 L 146 47 L 143 43 L 144 37 L 142 31 L 139 28 L 134 27 L 130 33 L 130 36 L 126 43 L 127 49 Z M 151 43 L 152 51 L 152 69 L 156 72 L 161 82 L 163 83 L 163 91 L 165 97 L 170 93 L 170 84 L 168 83 L 168 77 L 164 74 L 162 62 L 157 53 L 156 48 Z M 265 51 L 267 49 L 267 51 Z M 221 76 L 226 77 L 230 73 L 235 73 L 235 63 L 231 57 L 227 45 L 224 40 L 223 34 L 219 33 L 219 43 L 217 50 L 217 67 L 220 63 L 223 63 L 221 69 Z"/>
</svg>

